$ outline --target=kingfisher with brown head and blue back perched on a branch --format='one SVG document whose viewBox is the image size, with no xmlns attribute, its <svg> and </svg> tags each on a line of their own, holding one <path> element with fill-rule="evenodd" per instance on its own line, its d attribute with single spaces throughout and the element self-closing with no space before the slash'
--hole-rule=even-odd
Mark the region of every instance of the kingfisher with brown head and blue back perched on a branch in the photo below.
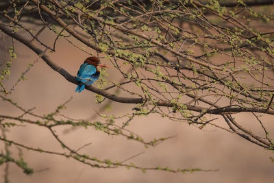
<svg viewBox="0 0 274 183">
<path fill-rule="evenodd" d="M 84 61 L 84 64 L 80 66 L 80 69 L 77 73 L 76 80 L 78 81 L 78 86 L 75 92 L 82 92 L 85 86 L 90 86 L 96 80 L 98 80 L 100 71 L 98 70 L 97 66 L 110 67 L 105 64 L 100 64 L 100 60 L 95 56 L 89 57 Z"/>
</svg>

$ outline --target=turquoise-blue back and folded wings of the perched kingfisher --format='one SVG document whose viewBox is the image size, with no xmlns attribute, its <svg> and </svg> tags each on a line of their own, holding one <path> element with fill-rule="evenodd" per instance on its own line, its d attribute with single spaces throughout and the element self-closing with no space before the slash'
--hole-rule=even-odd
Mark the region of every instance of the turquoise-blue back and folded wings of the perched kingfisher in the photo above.
<svg viewBox="0 0 274 183">
<path fill-rule="evenodd" d="M 92 79 L 92 75 L 95 75 L 95 73 L 96 73 L 95 66 L 84 63 L 80 66 L 80 69 L 77 73 L 77 80 L 84 84 L 88 84 L 88 82 L 91 82 L 90 79 Z"/>
</svg>

